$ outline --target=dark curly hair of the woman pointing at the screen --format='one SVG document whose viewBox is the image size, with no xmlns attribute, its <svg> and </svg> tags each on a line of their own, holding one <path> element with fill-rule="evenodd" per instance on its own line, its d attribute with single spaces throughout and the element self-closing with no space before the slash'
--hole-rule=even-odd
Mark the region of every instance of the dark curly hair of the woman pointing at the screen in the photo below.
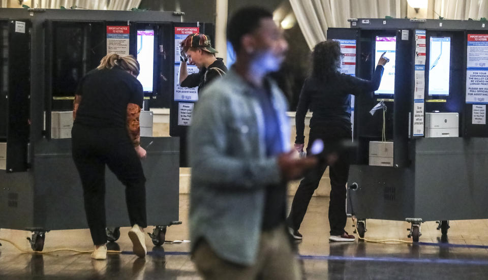
<svg viewBox="0 0 488 280">
<path fill-rule="evenodd" d="M 337 41 L 323 41 L 312 51 L 312 76 L 317 79 L 339 73 L 341 68 L 341 45 Z"/>
</svg>

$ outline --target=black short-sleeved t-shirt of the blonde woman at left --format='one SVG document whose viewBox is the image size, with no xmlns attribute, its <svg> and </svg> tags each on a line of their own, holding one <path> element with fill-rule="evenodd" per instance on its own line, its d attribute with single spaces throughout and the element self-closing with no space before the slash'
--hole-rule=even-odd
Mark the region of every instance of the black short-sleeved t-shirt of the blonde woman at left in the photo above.
<svg viewBox="0 0 488 280">
<path fill-rule="evenodd" d="M 82 98 L 75 123 L 98 128 L 125 128 L 127 105 L 142 107 L 144 99 L 141 83 L 120 68 L 88 72 L 78 84 L 76 95 Z"/>
</svg>

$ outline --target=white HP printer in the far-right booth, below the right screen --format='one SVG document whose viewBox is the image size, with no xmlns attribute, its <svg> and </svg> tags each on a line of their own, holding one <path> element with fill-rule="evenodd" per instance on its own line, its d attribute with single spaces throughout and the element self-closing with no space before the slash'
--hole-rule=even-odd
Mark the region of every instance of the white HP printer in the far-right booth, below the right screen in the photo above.
<svg viewBox="0 0 488 280">
<path fill-rule="evenodd" d="M 425 137 L 459 137 L 459 113 L 425 113 Z"/>
</svg>

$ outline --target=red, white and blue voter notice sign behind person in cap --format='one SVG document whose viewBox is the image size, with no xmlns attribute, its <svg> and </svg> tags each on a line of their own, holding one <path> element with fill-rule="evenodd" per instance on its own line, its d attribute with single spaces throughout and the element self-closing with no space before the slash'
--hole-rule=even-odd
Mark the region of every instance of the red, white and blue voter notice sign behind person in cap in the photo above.
<svg viewBox="0 0 488 280">
<path fill-rule="evenodd" d="M 198 33 L 199 27 L 174 27 L 174 101 L 198 101 L 198 87 L 179 86 L 179 65 L 181 63 L 179 44 L 188 35 Z M 185 62 L 184 62 L 185 63 Z M 198 73 L 199 70 L 194 65 L 187 66 L 188 74 Z"/>
</svg>

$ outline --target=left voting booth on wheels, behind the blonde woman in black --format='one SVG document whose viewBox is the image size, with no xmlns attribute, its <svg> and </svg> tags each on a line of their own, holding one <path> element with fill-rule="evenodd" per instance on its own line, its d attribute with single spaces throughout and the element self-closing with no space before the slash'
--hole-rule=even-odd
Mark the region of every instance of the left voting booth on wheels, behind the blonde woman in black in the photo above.
<svg viewBox="0 0 488 280">
<path fill-rule="evenodd" d="M 145 109 L 169 106 L 180 21 L 173 12 L 0 9 L 0 228 L 34 231 L 35 250 L 48 230 L 87 228 L 71 157 L 76 87 L 107 53 L 132 54 Z M 144 136 L 152 115 L 140 121 Z M 166 226 L 179 223 L 179 139 L 150 136 L 141 137 L 147 217 L 161 245 Z M 124 186 L 109 171 L 106 192 L 107 225 L 128 226 Z"/>
</svg>

